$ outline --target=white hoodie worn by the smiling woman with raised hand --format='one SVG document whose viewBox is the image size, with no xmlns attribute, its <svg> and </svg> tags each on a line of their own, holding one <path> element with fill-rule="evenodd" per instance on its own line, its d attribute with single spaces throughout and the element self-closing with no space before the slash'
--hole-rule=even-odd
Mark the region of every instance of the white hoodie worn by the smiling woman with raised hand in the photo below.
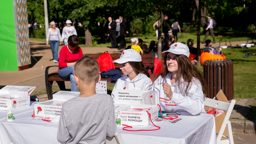
<svg viewBox="0 0 256 144">
<path fill-rule="evenodd" d="M 179 112 L 189 112 L 192 115 L 197 115 L 198 113 L 206 113 L 204 110 L 204 93 L 202 91 L 202 86 L 198 80 L 191 82 L 188 88 L 188 95 L 185 94 L 185 89 L 187 82 L 182 79 L 181 89 L 182 93 L 178 88 L 178 82 L 171 84 L 171 73 L 169 72 L 165 79 L 161 76 L 156 79 L 153 84 L 152 91 L 159 91 L 159 104 L 162 111 L 179 111 Z M 173 98 L 170 100 L 166 94 L 163 92 L 163 82 L 169 84 L 173 91 Z"/>
</svg>

